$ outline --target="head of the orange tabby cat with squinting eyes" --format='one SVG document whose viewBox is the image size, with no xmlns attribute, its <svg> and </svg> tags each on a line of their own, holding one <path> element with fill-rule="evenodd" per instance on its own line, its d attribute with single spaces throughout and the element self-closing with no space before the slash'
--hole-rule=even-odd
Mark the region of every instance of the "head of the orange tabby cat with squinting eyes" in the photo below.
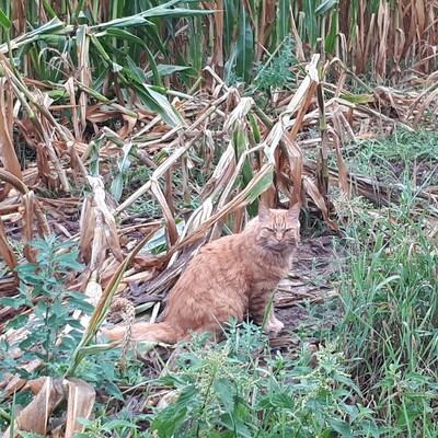
<svg viewBox="0 0 438 438">
<path fill-rule="evenodd" d="M 257 241 L 270 251 L 284 251 L 297 246 L 300 241 L 300 205 L 288 210 L 269 209 L 261 204 L 258 208 Z"/>
</svg>

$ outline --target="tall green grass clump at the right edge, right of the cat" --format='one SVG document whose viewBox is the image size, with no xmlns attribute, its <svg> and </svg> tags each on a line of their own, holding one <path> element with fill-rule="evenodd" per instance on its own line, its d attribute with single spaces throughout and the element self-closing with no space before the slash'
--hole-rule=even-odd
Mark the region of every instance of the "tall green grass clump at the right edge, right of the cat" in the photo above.
<svg viewBox="0 0 438 438">
<path fill-rule="evenodd" d="M 426 211 L 405 204 L 370 214 L 348 228 L 342 277 L 339 347 L 389 436 L 438 433 L 438 286 L 436 244 Z"/>
</svg>

